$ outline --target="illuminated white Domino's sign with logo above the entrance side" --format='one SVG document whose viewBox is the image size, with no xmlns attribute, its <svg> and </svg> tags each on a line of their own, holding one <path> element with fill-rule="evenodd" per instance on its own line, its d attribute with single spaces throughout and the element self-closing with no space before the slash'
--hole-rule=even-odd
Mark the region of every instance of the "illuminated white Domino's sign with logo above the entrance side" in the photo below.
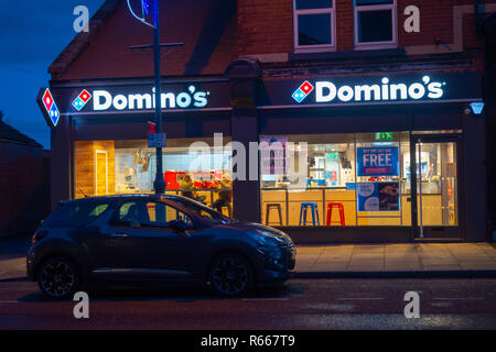
<svg viewBox="0 0 496 352">
<path fill-rule="evenodd" d="M 377 84 L 337 85 L 332 80 L 316 80 L 315 86 L 305 80 L 292 95 L 301 103 L 315 90 L 314 101 L 332 102 L 373 102 L 398 100 L 435 100 L 444 96 L 444 81 L 434 81 L 430 76 L 413 82 L 392 81 L 382 77 Z"/>
</svg>

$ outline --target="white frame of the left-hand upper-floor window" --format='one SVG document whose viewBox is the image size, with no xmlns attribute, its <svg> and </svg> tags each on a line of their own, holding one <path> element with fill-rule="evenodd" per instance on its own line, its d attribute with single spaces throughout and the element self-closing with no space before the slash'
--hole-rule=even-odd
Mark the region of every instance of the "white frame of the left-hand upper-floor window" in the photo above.
<svg viewBox="0 0 496 352">
<path fill-rule="evenodd" d="M 295 53 L 319 53 L 336 51 L 336 0 L 332 0 L 332 8 L 296 10 L 293 0 L 293 47 Z M 298 16 L 301 14 L 331 14 L 331 44 L 299 45 Z"/>
</svg>

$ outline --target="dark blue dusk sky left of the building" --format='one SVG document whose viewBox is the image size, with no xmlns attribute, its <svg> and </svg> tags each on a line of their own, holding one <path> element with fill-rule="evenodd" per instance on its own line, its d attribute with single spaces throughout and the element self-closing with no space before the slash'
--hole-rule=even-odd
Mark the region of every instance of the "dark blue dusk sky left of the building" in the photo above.
<svg viewBox="0 0 496 352">
<path fill-rule="evenodd" d="M 0 110 L 4 121 L 50 148 L 50 129 L 36 105 L 47 87 L 47 68 L 76 32 L 73 14 L 86 6 L 91 16 L 105 0 L 0 0 Z"/>
</svg>

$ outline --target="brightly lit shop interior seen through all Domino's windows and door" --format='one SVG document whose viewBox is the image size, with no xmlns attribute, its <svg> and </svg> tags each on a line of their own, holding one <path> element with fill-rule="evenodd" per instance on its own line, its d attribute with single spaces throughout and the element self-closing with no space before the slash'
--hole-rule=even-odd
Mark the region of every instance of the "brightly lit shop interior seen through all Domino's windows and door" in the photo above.
<svg viewBox="0 0 496 352">
<path fill-rule="evenodd" d="M 417 133 L 453 132 L 460 133 Z M 457 226 L 456 143 L 417 143 L 410 151 L 409 132 L 260 136 L 260 142 L 265 140 L 289 143 L 287 153 L 294 153 L 294 164 L 304 157 L 301 165 L 306 167 L 303 183 L 292 182 L 285 167 L 265 167 L 267 163 L 284 165 L 285 154 L 260 150 L 260 221 L 265 224 L 409 227 L 413 152 L 422 224 Z M 193 142 L 205 142 L 208 147 L 192 154 Z M 303 142 L 306 153 L 299 147 Z M 213 139 L 168 140 L 163 165 L 166 194 L 196 199 L 231 216 L 231 150 L 216 151 Z M 74 169 L 75 198 L 151 194 L 155 150 L 149 148 L 145 140 L 76 141 Z"/>
</svg>

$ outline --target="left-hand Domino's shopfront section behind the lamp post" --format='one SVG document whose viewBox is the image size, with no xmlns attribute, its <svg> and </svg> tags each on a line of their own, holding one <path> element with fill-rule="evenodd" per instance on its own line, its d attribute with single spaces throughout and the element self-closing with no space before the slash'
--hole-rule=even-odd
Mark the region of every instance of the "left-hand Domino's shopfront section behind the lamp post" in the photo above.
<svg viewBox="0 0 496 352">
<path fill-rule="evenodd" d="M 161 105 L 166 194 L 184 195 L 233 216 L 228 81 L 223 77 L 164 81 Z M 60 118 L 44 107 L 55 101 Z M 152 194 L 157 148 L 154 88 L 147 79 L 52 82 L 39 101 L 52 129 L 53 201 L 116 194 Z M 192 143 L 202 152 L 190 153 Z"/>
</svg>

